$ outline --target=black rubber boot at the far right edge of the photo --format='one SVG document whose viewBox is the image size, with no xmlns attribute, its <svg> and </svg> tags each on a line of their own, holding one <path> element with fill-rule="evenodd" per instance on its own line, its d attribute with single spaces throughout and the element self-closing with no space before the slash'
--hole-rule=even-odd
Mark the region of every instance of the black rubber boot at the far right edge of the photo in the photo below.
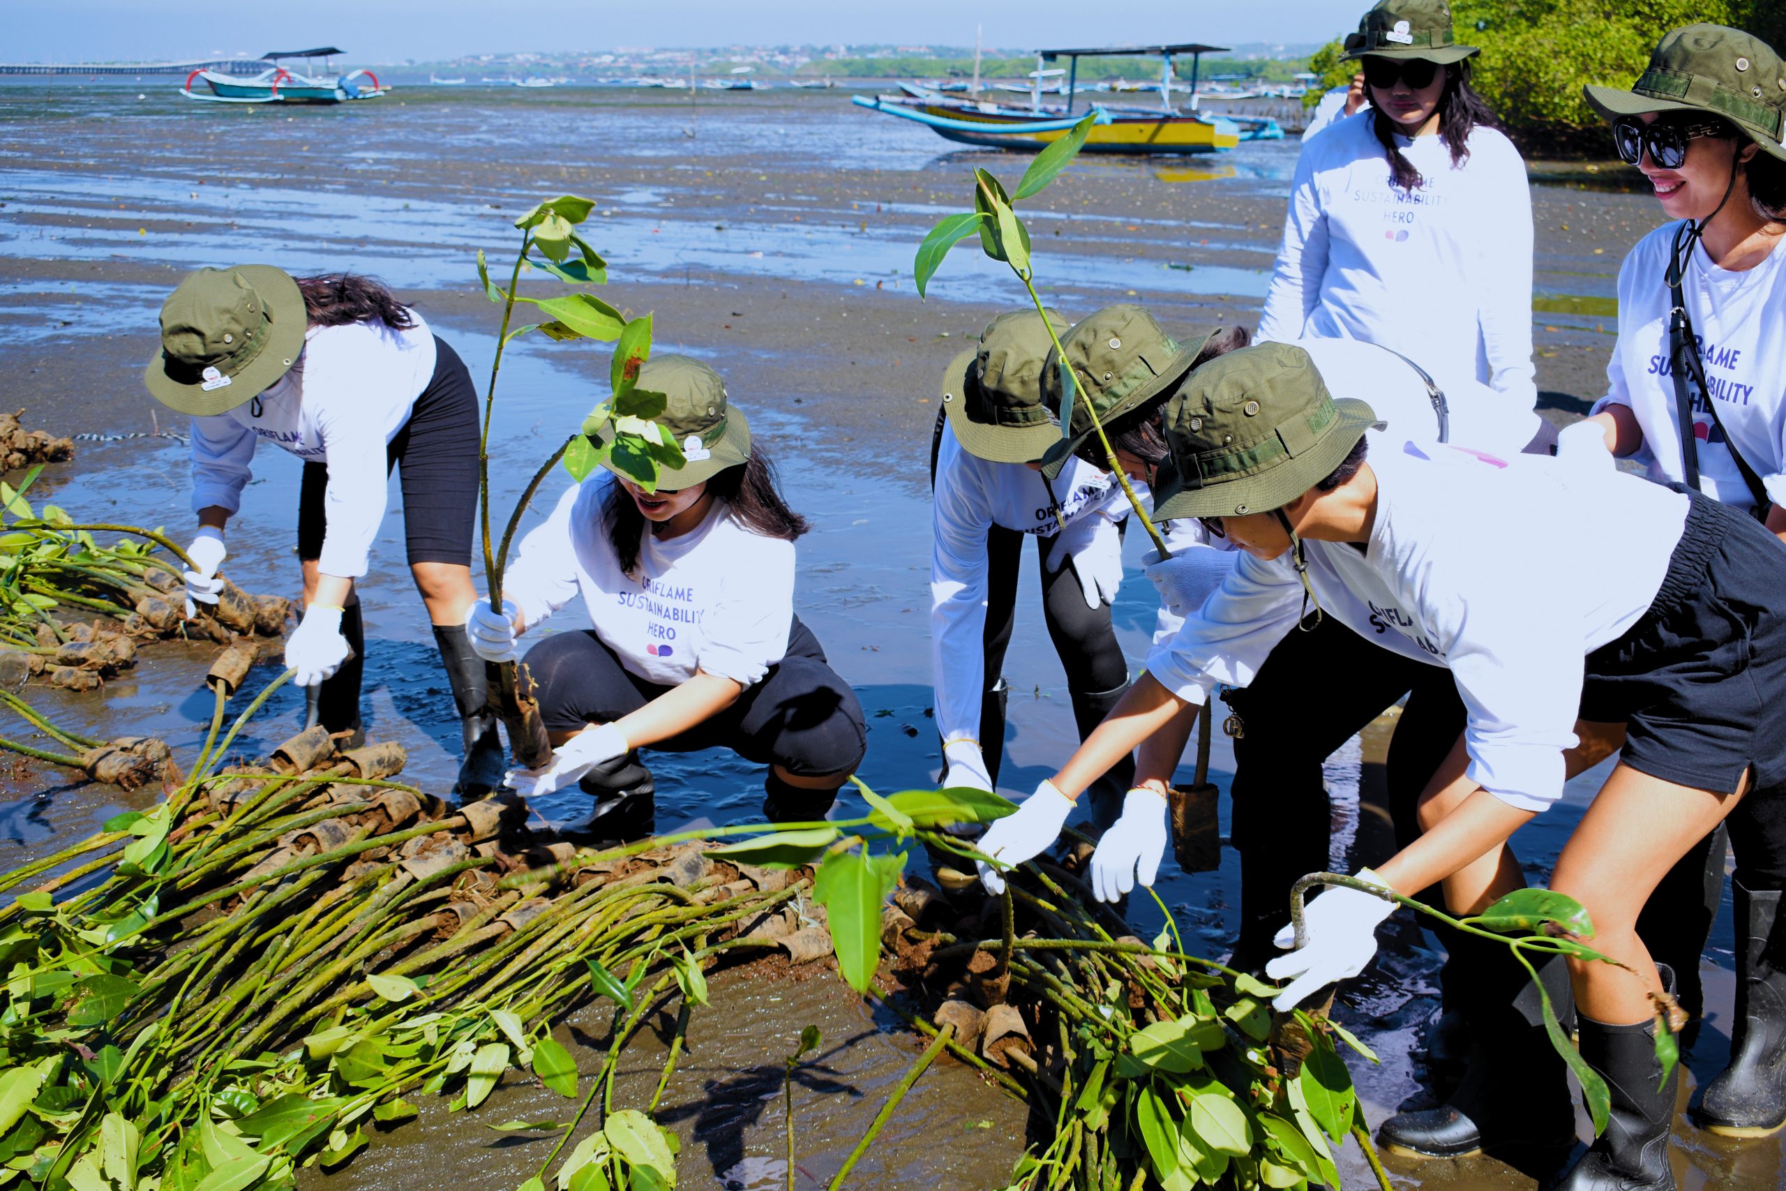
<svg viewBox="0 0 1786 1191">
<path fill-rule="evenodd" d="M 1693 1116 L 1723 1137 L 1766 1137 L 1786 1125 L 1786 971 L 1768 943 L 1781 909 L 1779 889 L 1736 891 L 1736 1027 L 1731 1066 L 1706 1084 Z"/>
</svg>

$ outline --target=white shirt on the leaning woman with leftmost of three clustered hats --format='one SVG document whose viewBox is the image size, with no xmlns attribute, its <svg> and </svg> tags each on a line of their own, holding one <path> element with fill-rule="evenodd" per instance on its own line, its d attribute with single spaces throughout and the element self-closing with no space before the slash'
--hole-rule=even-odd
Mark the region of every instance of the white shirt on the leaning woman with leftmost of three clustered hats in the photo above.
<svg viewBox="0 0 1786 1191">
<path fill-rule="evenodd" d="M 981 730 L 986 532 L 998 525 L 1039 541 L 1054 537 L 1061 523 L 1097 518 L 1093 532 L 1114 537 L 1116 525 L 1129 516 L 1129 498 L 1116 477 L 1077 457 L 1052 482 L 1059 505 L 1048 491 L 1050 484 L 1034 468 L 981 459 L 961 446 L 954 427 L 943 425 L 931 500 L 931 680 L 945 745 L 977 739 Z M 1145 487 L 1136 491 L 1143 495 Z"/>
</svg>

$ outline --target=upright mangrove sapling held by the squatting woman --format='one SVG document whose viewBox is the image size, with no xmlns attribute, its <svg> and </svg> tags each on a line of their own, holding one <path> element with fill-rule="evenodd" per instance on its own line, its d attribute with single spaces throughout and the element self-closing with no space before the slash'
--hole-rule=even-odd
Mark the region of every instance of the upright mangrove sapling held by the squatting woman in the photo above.
<svg viewBox="0 0 1786 1191">
<path fill-rule="evenodd" d="M 547 473 L 563 457 L 572 475 L 579 480 L 598 462 L 613 457 L 630 479 L 641 487 L 655 489 L 659 468 L 680 468 L 680 446 L 655 423 L 645 421 L 663 412 L 663 395 L 643 393 L 636 387 L 639 364 L 650 354 L 650 316 L 627 320 L 620 311 L 588 293 L 588 286 L 607 284 L 607 264 L 577 234 L 577 227 L 589 218 L 595 202 L 575 195 L 561 195 L 536 204 L 514 227 L 522 234 L 520 248 L 514 254 L 514 268 L 509 271 L 509 287 L 504 289 L 489 280 L 489 266 L 484 250 L 477 254 L 477 277 L 484 286 L 484 295 L 491 302 L 502 304 L 502 327 L 497 332 L 497 352 L 489 362 L 489 384 L 484 389 L 484 427 L 479 437 L 479 507 L 484 527 L 484 577 L 489 584 L 489 607 L 502 609 L 502 573 L 509 557 L 509 545 L 520 527 L 534 491 Z M 520 293 L 523 268 L 543 270 L 572 286 L 582 286 L 575 293 L 555 298 L 532 298 Z M 532 305 L 541 316 L 539 323 L 527 323 L 509 330 L 518 302 Z M 584 420 L 582 434 L 564 441 L 563 446 L 539 468 L 502 534 L 500 546 L 491 539 L 489 521 L 489 423 L 497 409 L 497 377 L 502 371 L 502 354 L 509 343 L 538 330 L 548 339 L 618 339 L 611 366 L 613 396 L 597 407 Z M 641 412 L 648 411 L 648 412 Z M 586 436 L 604 434 L 600 443 Z M 527 679 L 522 662 L 488 662 L 489 705 L 509 732 L 509 748 L 514 759 L 527 768 L 538 768 L 552 755 L 552 741 L 547 737 L 545 721 L 539 718 L 539 705 L 532 698 L 532 682 Z"/>
</svg>

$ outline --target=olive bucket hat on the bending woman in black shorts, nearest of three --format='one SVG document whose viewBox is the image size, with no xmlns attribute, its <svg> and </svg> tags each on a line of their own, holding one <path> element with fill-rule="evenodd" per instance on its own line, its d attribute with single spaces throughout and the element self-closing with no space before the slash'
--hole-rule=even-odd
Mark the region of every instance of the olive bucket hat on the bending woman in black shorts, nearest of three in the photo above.
<svg viewBox="0 0 1786 1191">
<path fill-rule="evenodd" d="M 1154 486 L 1159 520 L 1281 509 L 1382 427 L 1365 402 L 1334 400 L 1309 354 L 1288 343 L 1209 361 L 1166 402 L 1164 421 L 1172 464 Z"/>
</svg>

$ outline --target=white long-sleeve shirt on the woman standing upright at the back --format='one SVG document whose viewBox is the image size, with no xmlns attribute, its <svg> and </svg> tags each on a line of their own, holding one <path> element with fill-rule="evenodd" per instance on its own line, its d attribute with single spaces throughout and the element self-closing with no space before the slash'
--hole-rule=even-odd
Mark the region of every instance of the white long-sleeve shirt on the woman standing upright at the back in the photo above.
<svg viewBox="0 0 1786 1191">
<path fill-rule="evenodd" d="M 1525 162 L 1493 129 L 1452 168 L 1443 136 L 1397 137 L 1420 170 L 1390 186 L 1373 112 L 1302 146 L 1259 339 L 1365 339 L 1429 370 L 1473 370 L 1520 409 L 1532 371 L 1532 200 Z"/>
</svg>

